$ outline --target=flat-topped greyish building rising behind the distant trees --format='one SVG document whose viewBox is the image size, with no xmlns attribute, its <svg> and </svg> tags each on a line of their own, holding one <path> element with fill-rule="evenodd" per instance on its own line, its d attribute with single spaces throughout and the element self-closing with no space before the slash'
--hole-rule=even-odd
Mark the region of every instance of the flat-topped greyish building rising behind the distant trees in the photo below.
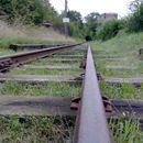
<svg viewBox="0 0 143 143">
<path fill-rule="evenodd" d="M 102 13 L 99 16 L 99 22 L 105 22 L 110 20 L 118 20 L 118 13 Z"/>
</svg>

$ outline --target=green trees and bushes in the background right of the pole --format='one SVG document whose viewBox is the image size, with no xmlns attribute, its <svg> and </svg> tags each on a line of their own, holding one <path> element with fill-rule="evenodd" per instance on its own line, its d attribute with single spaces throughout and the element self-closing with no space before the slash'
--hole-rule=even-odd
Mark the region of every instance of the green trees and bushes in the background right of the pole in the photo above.
<svg viewBox="0 0 143 143">
<path fill-rule="evenodd" d="M 98 12 L 89 13 L 85 16 L 85 22 L 82 22 L 82 18 L 79 12 L 69 11 L 68 16 L 72 22 L 75 23 L 73 29 L 76 30 L 75 33 L 80 33 L 79 36 L 88 37 L 88 40 L 107 41 L 114 37 L 120 32 L 143 32 L 143 0 L 132 1 L 129 9 L 130 14 L 125 18 L 120 20 L 113 19 L 105 22 L 99 21 L 100 13 Z M 72 16 L 74 15 L 78 15 L 78 20 L 73 19 Z M 79 25 L 81 25 L 81 28 L 78 28 Z M 74 34 L 74 31 L 70 34 Z"/>
</svg>

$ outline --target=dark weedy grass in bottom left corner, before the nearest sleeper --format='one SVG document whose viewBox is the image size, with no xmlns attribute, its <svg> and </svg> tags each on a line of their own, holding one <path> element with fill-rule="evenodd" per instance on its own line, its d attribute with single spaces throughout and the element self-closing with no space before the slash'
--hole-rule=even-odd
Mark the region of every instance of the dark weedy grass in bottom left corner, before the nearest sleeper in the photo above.
<svg viewBox="0 0 143 143">
<path fill-rule="evenodd" d="M 72 142 L 75 118 L 18 117 L 0 118 L 1 143 Z"/>
</svg>

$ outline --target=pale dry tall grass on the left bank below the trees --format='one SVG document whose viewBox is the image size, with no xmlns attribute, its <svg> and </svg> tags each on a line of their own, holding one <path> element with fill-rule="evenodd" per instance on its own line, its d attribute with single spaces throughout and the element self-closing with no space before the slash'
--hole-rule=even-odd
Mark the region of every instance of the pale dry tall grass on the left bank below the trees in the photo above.
<svg viewBox="0 0 143 143">
<path fill-rule="evenodd" d="M 29 43 L 69 43 L 73 38 L 66 38 L 58 31 L 44 26 L 31 26 L 16 23 L 9 25 L 0 21 L 0 47 L 8 47 L 10 44 Z"/>
</svg>

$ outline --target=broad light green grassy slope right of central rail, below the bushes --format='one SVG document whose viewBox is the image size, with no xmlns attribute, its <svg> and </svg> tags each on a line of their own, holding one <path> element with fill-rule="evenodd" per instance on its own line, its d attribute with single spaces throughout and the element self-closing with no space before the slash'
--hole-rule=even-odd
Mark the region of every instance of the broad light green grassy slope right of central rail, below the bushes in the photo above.
<svg viewBox="0 0 143 143">
<path fill-rule="evenodd" d="M 139 50 L 143 47 L 143 33 L 139 34 L 124 34 L 117 36 L 103 43 L 96 42 L 92 44 L 95 47 L 95 59 L 97 69 L 105 76 L 116 77 L 133 77 L 143 75 L 143 64 L 139 59 Z M 106 58 L 121 58 L 119 62 L 107 62 Z M 107 69 L 107 66 L 130 66 L 136 69 Z"/>
</svg>

